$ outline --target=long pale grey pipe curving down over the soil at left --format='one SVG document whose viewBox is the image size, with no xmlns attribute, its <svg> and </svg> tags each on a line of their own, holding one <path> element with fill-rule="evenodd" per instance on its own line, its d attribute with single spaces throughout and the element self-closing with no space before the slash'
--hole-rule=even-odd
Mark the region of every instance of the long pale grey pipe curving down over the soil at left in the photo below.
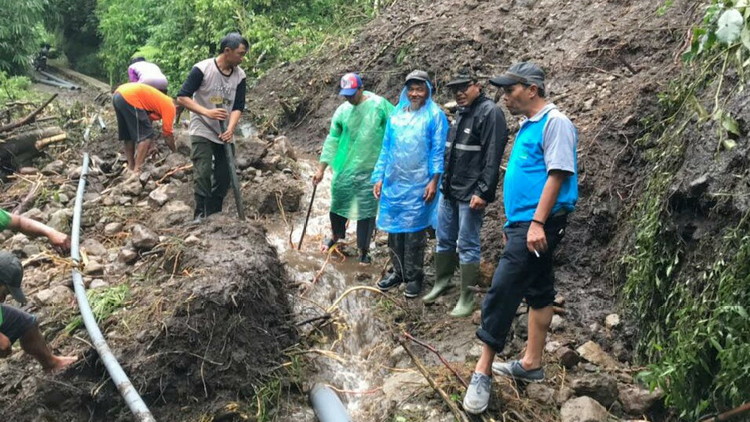
<svg viewBox="0 0 750 422">
<path fill-rule="evenodd" d="M 81 210 L 83 205 L 83 192 L 86 190 L 86 175 L 89 172 L 89 155 L 83 154 L 83 165 L 81 166 L 81 179 L 78 181 L 78 192 L 76 194 L 75 207 L 73 208 L 73 227 L 71 228 L 70 234 L 70 257 L 76 262 L 81 262 L 81 255 L 79 252 L 80 238 L 81 238 Z M 125 399 L 130 411 L 133 412 L 135 418 L 139 422 L 156 422 L 156 419 L 151 415 L 151 411 L 148 410 L 146 403 L 135 390 L 133 384 L 130 383 L 130 379 L 122 370 L 122 367 L 115 359 L 107 345 L 107 341 L 104 340 L 99 326 L 96 324 L 93 312 L 91 312 L 91 306 L 89 305 L 88 298 L 86 297 L 86 286 L 83 284 L 83 277 L 76 268 L 73 269 L 73 287 L 76 292 L 76 300 L 78 301 L 78 308 L 81 311 L 81 317 L 83 323 L 86 325 L 86 331 L 91 337 L 91 341 L 99 353 L 99 358 L 104 363 L 104 366 L 109 372 L 112 382 L 120 390 L 120 394 Z"/>
</svg>

